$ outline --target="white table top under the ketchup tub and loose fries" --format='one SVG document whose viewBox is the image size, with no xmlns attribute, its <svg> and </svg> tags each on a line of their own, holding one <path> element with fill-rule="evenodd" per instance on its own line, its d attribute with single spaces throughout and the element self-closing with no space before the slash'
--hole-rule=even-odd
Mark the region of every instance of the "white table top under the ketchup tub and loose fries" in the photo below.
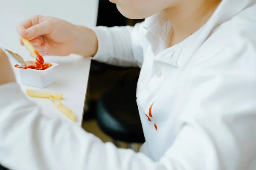
<svg viewBox="0 0 256 170">
<path fill-rule="evenodd" d="M 74 24 L 95 26 L 98 11 L 98 0 L 1 0 L 0 10 L 0 46 L 20 54 L 25 60 L 31 60 L 29 51 L 19 44 L 16 26 L 32 15 L 41 14 L 58 17 Z M 90 70 L 90 59 L 77 55 L 68 57 L 44 57 L 45 61 L 56 62 L 54 83 L 47 88 L 33 88 L 21 85 L 23 91 L 32 90 L 62 93 L 62 103 L 74 111 L 77 121 L 74 124 L 81 126 L 84 102 L 87 90 L 87 81 Z M 11 62 L 15 65 L 14 62 Z M 14 68 L 14 67 L 13 67 Z M 17 82 L 20 77 L 17 68 L 14 68 Z M 59 112 L 49 99 L 29 98 L 38 103 L 43 113 L 49 117 L 58 117 L 70 121 Z M 70 121 L 71 122 L 71 121 Z"/>
</svg>

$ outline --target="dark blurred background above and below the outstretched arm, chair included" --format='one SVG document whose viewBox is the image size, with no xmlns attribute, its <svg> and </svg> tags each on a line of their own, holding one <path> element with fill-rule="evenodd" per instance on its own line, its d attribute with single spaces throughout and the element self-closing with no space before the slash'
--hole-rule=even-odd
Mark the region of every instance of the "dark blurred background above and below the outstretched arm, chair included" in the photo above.
<svg viewBox="0 0 256 170">
<path fill-rule="evenodd" d="M 143 20 L 122 16 L 116 5 L 99 0 L 97 26 L 134 26 Z M 91 62 L 82 127 L 103 142 L 135 151 L 144 142 L 136 104 L 140 68 L 121 68 Z M 129 106 L 129 107 L 128 107 Z"/>
</svg>

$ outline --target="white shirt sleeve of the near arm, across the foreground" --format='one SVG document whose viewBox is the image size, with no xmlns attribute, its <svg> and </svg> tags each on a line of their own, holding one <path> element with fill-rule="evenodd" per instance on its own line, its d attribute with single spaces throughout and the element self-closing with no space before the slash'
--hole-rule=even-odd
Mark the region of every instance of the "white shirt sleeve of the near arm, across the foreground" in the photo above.
<svg viewBox="0 0 256 170">
<path fill-rule="evenodd" d="M 256 59 L 238 55 L 217 56 L 233 61 L 229 67 L 209 60 L 190 70 L 179 133 L 159 161 L 48 119 L 17 84 L 1 85 L 0 164 L 13 170 L 255 170 Z"/>
</svg>

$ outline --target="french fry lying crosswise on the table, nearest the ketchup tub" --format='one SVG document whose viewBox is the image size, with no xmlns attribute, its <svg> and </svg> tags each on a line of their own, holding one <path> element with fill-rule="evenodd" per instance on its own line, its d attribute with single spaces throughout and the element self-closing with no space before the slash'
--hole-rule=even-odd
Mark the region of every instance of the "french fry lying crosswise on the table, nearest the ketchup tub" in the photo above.
<svg viewBox="0 0 256 170">
<path fill-rule="evenodd" d="M 59 100 L 63 99 L 63 94 L 44 92 L 44 91 L 33 91 L 30 89 L 26 89 L 26 95 L 30 97 L 38 97 L 38 98 L 46 98 L 46 99 L 49 99 L 50 96 L 54 96 L 56 99 L 59 99 Z"/>
</svg>

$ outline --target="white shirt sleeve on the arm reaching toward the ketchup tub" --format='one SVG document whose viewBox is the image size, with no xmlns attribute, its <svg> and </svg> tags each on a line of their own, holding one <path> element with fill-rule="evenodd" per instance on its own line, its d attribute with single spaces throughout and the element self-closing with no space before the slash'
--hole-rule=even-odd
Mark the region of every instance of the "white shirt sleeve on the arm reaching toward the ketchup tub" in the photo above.
<svg viewBox="0 0 256 170">
<path fill-rule="evenodd" d="M 142 23 L 131 26 L 93 28 L 98 51 L 92 58 L 117 66 L 141 66 L 143 63 L 144 30 Z"/>
</svg>

